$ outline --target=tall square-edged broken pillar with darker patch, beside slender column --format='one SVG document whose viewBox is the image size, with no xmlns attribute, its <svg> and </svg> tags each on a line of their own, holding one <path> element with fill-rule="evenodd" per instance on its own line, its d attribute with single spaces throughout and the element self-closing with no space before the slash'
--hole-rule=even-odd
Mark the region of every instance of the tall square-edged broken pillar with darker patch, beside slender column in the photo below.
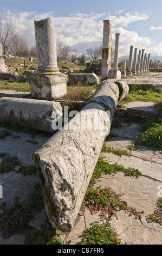
<svg viewBox="0 0 162 256">
<path fill-rule="evenodd" d="M 101 75 L 108 76 L 108 70 L 111 69 L 112 57 L 112 23 L 109 20 L 103 21 L 103 44 L 102 44 L 102 69 Z"/>
</svg>

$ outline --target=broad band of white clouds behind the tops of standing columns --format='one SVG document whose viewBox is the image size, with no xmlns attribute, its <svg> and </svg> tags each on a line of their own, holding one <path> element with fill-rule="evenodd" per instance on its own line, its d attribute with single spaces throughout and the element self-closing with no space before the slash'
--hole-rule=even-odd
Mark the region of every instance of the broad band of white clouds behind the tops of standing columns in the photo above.
<svg viewBox="0 0 162 256">
<path fill-rule="evenodd" d="M 123 12 L 120 10 L 118 13 Z M 123 27 L 135 21 L 147 20 L 146 14 L 125 13 L 123 16 L 118 14 L 106 16 L 108 13 L 101 14 L 69 14 L 64 17 L 56 17 L 54 12 L 37 13 L 6 11 L 21 31 L 21 35 L 28 39 L 30 45 L 35 45 L 34 20 L 42 20 L 51 17 L 56 31 L 56 41 L 66 42 L 68 45 L 85 52 L 89 47 L 102 44 L 103 20 L 109 19 L 113 25 L 113 44 L 115 33 L 120 33 L 119 56 L 129 54 L 130 45 L 138 47 L 149 47 L 153 42 L 149 37 L 141 37 L 137 32 L 127 31 Z M 120 26 L 120 27 L 118 27 Z"/>
</svg>

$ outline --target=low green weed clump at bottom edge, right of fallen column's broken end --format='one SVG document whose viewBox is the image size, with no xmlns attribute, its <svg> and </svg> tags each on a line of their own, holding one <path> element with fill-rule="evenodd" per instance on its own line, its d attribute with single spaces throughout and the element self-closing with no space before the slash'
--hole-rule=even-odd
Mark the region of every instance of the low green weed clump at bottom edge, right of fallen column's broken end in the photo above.
<svg viewBox="0 0 162 256">
<path fill-rule="evenodd" d="M 110 223 L 94 222 L 83 234 L 82 245 L 121 245 Z"/>
</svg>

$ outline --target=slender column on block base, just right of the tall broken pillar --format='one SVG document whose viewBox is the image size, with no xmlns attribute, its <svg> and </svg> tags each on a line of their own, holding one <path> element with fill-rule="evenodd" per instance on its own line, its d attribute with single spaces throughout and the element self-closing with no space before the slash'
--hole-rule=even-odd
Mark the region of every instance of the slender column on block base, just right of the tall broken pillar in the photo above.
<svg viewBox="0 0 162 256">
<path fill-rule="evenodd" d="M 118 70 L 119 36 L 120 33 L 115 34 L 114 68 L 108 71 L 109 79 L 121 78 L 121 72 Z"/>
</svg>

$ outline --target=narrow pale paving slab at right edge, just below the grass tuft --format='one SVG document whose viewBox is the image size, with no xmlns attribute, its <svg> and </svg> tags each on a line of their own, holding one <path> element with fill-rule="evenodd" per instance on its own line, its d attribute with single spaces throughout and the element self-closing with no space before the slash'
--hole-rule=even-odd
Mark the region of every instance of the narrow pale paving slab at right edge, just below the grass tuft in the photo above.
<svg viewBox="0 0 162 256">
<path fill-rule="evenodd" d="M 131 167 L 139 169 L 142 174 L 162 181 L 162 168 L 161 164 L 159 163 L 144 161 L 134 156 L 122 155 L 118 161 L 118 164 L 121 164 L 125 168 Z"/>
</svg>

